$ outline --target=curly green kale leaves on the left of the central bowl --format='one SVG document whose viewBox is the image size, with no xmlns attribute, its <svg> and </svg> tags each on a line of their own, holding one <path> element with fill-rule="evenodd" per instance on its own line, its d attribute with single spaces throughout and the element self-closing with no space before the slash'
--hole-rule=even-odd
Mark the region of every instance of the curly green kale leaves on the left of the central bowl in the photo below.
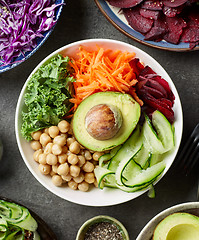
<svg viewBox="0 0 199 240">
<path fill-rule="evenodd" d="M 69 57 L 56 55 L 42 65 L 31 77 L 24 96 L 22 134 L 31 140 L 31 133 L 58 122 L 70 110 Z"/>
</svg>

